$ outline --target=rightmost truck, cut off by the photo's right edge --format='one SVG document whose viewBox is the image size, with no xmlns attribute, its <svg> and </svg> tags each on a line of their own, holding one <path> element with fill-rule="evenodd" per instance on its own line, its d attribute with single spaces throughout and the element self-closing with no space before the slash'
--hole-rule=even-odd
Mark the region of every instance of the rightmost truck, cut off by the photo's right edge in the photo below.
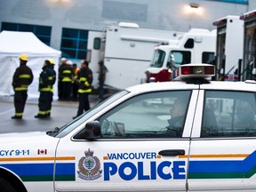
<svg viewBox="0 0 256 192">
<path fill-rule="evenodd" d="M 256 79 L 256 10 L 245 12 L 244 20 L 244 57 L 242 79 Z"/>
</svg>

